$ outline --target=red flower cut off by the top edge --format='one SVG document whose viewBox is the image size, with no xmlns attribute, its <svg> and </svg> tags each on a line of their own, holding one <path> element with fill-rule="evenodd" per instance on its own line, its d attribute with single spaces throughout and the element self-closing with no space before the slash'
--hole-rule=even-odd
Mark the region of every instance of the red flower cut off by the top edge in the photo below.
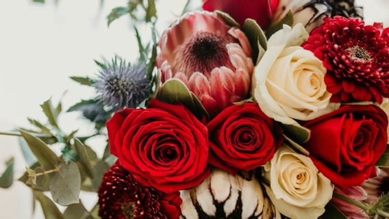
<svg viewBox="0 0 389 219">
<path fill-rule="evenodd" d="M 271 23 L 279 0 L 203 0 L 203 2 L 204 10 L 226 12 L 240 25 L 243 25 L 247 18 L 251 18 L 266 29 Z"/>
</svg>

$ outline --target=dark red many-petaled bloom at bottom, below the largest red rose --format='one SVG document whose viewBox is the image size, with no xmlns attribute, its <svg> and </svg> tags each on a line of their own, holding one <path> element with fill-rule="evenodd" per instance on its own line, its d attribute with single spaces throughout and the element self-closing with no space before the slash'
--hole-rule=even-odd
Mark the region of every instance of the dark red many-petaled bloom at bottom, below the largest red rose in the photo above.
<svg viewBox="0 0 389 219">
<path fill-rule="evenodd" d="M 166 194 L 145 187 L 117 163 L 105 172 L 99 188 L 99 216 L 103 219 L 177 219 L 181 203 L 179 192 Z"/>
</svg>

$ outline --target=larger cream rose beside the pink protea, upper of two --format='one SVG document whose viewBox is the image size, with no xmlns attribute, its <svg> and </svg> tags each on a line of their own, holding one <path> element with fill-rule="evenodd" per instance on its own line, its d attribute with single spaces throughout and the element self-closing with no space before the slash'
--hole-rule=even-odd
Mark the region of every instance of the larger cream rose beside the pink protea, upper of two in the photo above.
<svg viewBox="0 0 389 219">
<path fill-rule="evenodd" d="M 297 125 L 335 110 L 329 106 L 324 77 L 326 68 L 315 55 L 299 45 L 308 38 L 300 23 L 284 25 L 268 40 L 253 74 L 253 97 L 262 111 L 275 120 Z"/>
</svg>

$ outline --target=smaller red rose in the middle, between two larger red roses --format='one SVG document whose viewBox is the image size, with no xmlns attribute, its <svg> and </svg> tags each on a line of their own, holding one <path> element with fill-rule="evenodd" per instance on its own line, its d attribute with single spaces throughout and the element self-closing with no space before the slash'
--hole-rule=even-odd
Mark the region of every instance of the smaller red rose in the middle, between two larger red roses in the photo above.
<svg viewBox="0 0 389 219">
<path fill-rule="evenodd" d="M 284 140 L 282 129 L 258 103 L 225 108 L 208 123 L 209 163 L 235 174 L 266 164 Z"/>
</svg>

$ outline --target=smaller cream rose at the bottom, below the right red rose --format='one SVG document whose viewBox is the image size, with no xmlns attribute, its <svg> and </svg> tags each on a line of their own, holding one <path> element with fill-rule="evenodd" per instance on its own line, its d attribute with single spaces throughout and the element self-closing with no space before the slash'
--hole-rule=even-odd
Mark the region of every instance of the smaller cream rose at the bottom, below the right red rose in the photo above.
<svg viewBox="0 0 389 219">
<path fill-rule="evenodd" d="M 292 219 L 318 218 L 331 200 L 334 185 L 318 172 L 309 157 L 281 146 L 265 166 L 264 185 L 281 213 Z"/>
</svg>

